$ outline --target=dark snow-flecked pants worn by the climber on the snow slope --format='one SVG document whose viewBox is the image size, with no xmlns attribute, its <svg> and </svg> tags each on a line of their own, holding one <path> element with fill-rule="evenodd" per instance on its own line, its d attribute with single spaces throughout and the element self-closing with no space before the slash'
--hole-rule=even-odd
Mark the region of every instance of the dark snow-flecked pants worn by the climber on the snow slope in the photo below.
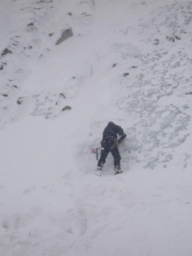
<svg viewBox="0 0 192 256">
<path fill-rule="evenodd" d="M 111 152 L 114 158 L 114 166 L 120 166 L 121 157 L 117 146 L 117 140 L 113 137 L 107 137 L 101 141 L 101 146 L 101 157 L 97 166 L 103 167 L 109 152 Z"/>
</svg>

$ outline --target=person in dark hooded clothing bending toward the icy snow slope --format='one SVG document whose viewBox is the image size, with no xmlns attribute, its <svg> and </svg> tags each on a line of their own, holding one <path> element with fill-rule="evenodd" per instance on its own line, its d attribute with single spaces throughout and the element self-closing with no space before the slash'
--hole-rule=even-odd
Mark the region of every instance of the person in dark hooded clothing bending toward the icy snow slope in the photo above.
<svg viewBox="0 0 192 256">
<path fill-rule="evenodd" d="M 121 136 L 121 138 L 117 139 L 117 134 Z M 103 139 L 101 141 L 101 157 L 98 161 L 98 167 L 95 171 L 95 174 L 98 176 L 101 176 L 103 165 L 106 161 L 107 155 L 109 152 L 111 152 L 113 158 L 114 158 L 114 171 L 115 174 L 123 173 L 120 168 L 120 153 L 118 144 L 126 138 L 126 134 L 124 133 L 123 129 L 115 125 L 113 122 L 109 122 L 107 127 L 105 127 L 103 131 Z M 118 143 L 119 142 L 119 143 Z"/>
</svg>

